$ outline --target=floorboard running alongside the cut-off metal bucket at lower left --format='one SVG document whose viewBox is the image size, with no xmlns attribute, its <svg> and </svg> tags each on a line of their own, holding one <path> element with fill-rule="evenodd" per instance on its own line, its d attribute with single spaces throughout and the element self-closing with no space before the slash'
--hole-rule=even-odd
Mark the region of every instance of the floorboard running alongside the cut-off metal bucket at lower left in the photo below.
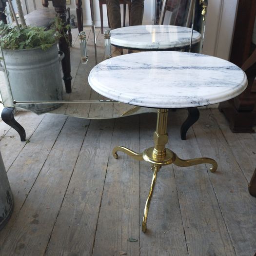
<svg viewBox="0 0 256 256">
<path fill-rule="evenodd" d="M 64 116 L 45 115 L 30 138 L 30 142 L 25 144 L 19 156 L 9 168 L 7 175 L 14 195 L 15 206 L 11 219 L 0 232 L 0 254 L 5 252 L 2 247 L 3 243 L 11 240 L 10 237 L 15 239 L 13 236 L 8 236 L 8 238 L 6 236 L 9 233 L 11 234 L 12 227 L 15 227 L 20 209 L 28 197 L 65 121 L 66 117 Z M 7 150 L 9 154 L 12 154 L 12 148 L 6 147 L 1 150 Z M 11 248 L 10 250 L 14 249 L 12 245 Z"/>
</svg>

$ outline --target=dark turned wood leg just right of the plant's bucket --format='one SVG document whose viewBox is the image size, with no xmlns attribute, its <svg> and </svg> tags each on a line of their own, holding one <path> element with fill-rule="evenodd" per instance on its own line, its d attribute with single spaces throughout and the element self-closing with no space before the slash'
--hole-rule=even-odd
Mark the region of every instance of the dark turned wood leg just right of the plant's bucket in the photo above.
<svg viewBox="0 0 256 256">
<path fill-rule="evenodd" d="M 63 28 L 61 30 L 61 34 L 63 37 L 59 39 L 59 50 L 65 54 L 65 58 L 61 60 L 62 71 L 63 71 L 63 80 L 65 83 L 66 93 L 71 93 L 71 80 L 72 77 L 71 67 L 70 67 L 70 50 L 69 50 L 69 42 L 67 38 L 67 20 L 66 20 L 66 6 L 61 5 L 59 3 L 61 1 L 53 1 L 53 6 L 55 7 L 55 11 L 57 16 L 62 20 Z M 63 4 L 63 3 L 62 3 Z"/>
</svg>

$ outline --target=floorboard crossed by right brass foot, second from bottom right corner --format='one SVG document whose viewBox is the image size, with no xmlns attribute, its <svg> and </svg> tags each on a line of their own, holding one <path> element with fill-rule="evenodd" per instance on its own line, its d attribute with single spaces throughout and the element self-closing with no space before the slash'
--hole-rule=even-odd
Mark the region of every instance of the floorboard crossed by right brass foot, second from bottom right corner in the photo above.
<svg viewBox="0 0 256 256">
<path fill-rule="evenodd" d="M 170 144 L 179 158 L 209 157 L 204 148 L 200 152 L 192 128 L 188 131 L 189 139 L 179 140 L 179 127 L 186 112 L 177 110 L 171 113 L 168 131 Z M 189 255 L 234 255 L 234 248 L 209 179 L 216 173 L 209 173 L 210 165 L 205 164 L 173 167 Z"/>
</svg>

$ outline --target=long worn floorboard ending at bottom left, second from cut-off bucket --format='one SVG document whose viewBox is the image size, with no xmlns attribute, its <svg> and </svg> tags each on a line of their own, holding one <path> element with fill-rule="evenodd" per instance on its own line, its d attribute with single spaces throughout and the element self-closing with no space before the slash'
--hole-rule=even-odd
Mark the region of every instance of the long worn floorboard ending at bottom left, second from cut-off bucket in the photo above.
<svg viewBox="0 0 256 256">
<path fill-rule="evenodd" d="M 45 251 L 86 133 L 88 121 L 74 119 L 67 119 L 47 159 L 41 161 L 40 173 L 2 248 L 7 255 L 13 249 L 26 256 Z"/>
</svg>

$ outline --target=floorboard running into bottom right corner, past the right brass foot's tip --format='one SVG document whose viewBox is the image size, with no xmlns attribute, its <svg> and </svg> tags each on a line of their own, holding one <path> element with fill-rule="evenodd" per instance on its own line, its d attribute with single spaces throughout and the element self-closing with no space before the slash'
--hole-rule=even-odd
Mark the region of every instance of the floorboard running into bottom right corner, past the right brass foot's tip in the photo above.
<svg viewBox="0 0 256 256">
<path fill-rule="evenodd" d="M 256 252 L 256 198 L 248 193 L 248 182 L 238 165 L 217 119 L 210 111 L 201 111 L 193 126 L 201 154 L 217 160 L 216 174 L 210 180 L 232 239 L 236 255 Z"/>
</svg>

